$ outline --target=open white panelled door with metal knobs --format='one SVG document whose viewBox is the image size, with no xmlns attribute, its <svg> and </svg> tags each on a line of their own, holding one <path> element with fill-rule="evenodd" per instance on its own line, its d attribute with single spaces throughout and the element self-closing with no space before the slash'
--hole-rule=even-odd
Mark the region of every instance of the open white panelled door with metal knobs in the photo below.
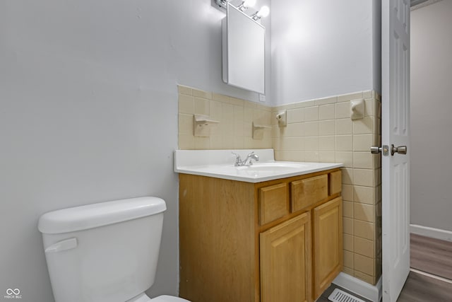
<svg viewBox="0 0 452 302">
<path fill-rule="evenodd" d="M 383 302 L 396 302 L 410 272 L 410 0 L 382 1 L 381 73 Z"/>
</svg>

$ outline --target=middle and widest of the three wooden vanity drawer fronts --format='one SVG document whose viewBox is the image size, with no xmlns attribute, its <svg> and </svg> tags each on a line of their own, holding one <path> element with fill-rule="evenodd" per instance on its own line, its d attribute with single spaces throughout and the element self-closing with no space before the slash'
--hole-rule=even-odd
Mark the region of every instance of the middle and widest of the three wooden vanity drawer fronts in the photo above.
<svg viewBox="0 0 452 302">
<path fill-rule="evenodd" d="M 328 175 L 297 180 L 290 184 L 292 211 L 299 211 L 328 197 Z"/>
</svg>

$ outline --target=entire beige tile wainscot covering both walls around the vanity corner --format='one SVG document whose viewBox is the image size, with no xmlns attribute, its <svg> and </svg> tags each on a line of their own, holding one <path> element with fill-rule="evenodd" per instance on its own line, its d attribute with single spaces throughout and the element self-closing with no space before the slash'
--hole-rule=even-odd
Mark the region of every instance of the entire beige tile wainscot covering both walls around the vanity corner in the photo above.
<svg viewBox="0 0 452 302">
<path fill-rule="evenodd" d="M 369 149 L 381 141 L 381 103 L 374 91 L 270 108 L 186 86 L 179 89 L 179 149 L 275 149 L 279 161 L 344 163 L 343 271 L 369 284 L 381 276 L 381 160 Z M 362 120 L 350 120 L 350 100 L 364 98 Z M 287 110 L 287 127 L 275 115 Z M 220 123 L 194 137 L 193 115 Z M 261 140 L 251 123 L 271 125 Z"/>
</svg>

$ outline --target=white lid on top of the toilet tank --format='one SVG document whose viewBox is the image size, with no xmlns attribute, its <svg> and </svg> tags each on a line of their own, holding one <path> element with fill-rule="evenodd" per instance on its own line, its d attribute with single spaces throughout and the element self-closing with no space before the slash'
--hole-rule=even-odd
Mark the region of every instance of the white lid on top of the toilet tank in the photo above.
<svg viewBox="0 0 452 302">
<path fill-rule="evenodd" d="M 69 233 L 150 216 L 166 209 L 165 200 L 158 197 L 120 199 L 48 212 L 40 216 L 37 228 L 46 234 Z"/>
</svg>

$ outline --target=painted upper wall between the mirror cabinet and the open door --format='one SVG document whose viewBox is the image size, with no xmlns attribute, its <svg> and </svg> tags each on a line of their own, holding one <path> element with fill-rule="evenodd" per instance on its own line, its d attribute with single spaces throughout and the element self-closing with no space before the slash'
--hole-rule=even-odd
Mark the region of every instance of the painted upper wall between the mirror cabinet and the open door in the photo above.
<svg viewBox="0 0 452 302">
<path fill-rule="evenodd" d="M 272 102 L 381 91 L 381 1 L 272 2 Z"/>
</svg>

